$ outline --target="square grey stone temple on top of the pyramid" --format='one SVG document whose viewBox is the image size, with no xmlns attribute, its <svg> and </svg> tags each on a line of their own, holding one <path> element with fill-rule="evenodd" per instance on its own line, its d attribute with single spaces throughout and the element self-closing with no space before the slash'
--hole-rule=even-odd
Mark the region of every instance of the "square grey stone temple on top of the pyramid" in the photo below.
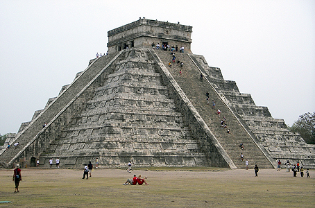
<svg viewBox="0 0 315 208">
<path fill-rule="evenodd" d="M 141 19 L 108 31 L 108 52 L 114 53 L 127 48 L 150 48 L 152 43 L 169 46 L 184 46 L 191 51 L 192 26 Z"/>
</svg>

